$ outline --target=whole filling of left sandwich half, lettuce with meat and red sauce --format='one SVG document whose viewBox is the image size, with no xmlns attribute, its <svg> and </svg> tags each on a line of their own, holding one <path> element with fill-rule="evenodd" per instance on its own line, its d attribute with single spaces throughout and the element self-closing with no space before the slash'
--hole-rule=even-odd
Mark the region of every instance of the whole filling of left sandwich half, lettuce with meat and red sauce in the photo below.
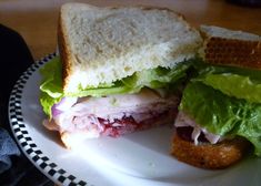
<svg viewBox="0 0 261 186">
<path fill-rule="evenodd" d="M 173 123 L 192 62 L 143 70 L 98 87 L 79 84 L 76 92 L 64 92 L 62 64 L 54 58 L 41 69 L 40 102 L 49 116 L 43 124 L 62 136 L 84 133 L 86 137 L 117 137 Z"/>
</svg>

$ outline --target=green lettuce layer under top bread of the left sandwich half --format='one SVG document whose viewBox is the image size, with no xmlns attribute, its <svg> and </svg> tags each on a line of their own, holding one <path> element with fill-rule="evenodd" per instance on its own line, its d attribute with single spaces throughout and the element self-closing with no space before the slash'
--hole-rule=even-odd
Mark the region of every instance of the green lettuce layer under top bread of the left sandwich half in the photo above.
<svg viewBox="0 0 261 186">
<path fill-rule="evenodd" d="M 104 96 L 109 94 L 137 93 L 142 87 L 150 89 L 170 89 L 171 84 L 179 82 L 187 76 L 187 71 L 192 64 L 191 61 L 185 61 L 174 66 L 173 69 L 157 68 L 137 72 L 131 76 L 124 78 L 121 81 L 111 84 L 101 84 L 98 87 L 81 89 L 73 93 L 64 93 L 62 91 L 62 72 L 61 62 L 57 56 L 49 61 L 41 69 L 42 82 L 40 85 L 41 94 L 40 102 L 49 117 L 51 117 L 51 107 L 64 96 Z M 171 90 L 171 89 L 170 89 Z"/>
</svg>

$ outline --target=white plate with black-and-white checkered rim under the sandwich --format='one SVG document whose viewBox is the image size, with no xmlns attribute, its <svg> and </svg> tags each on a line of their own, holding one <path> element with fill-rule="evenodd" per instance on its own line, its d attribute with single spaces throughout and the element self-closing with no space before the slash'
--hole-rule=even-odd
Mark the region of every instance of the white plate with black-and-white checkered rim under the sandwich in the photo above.
<svg viewBox="0 0 261 186">
<path fill-rule="evenodd" d="M 32 64 L 17 82 L 9 102 L 13 134 L 27 157 L 58 185 L 178 186 L 261 184 L 261 159 L 249 157 L 224 170 L 204 170 L 170 155 L 172 130 L 158 127 L 120 138 L 84 141 L 66 149 L 54 132 L 42 126 L 39 69 L 54 54 Z"/>
</svg>

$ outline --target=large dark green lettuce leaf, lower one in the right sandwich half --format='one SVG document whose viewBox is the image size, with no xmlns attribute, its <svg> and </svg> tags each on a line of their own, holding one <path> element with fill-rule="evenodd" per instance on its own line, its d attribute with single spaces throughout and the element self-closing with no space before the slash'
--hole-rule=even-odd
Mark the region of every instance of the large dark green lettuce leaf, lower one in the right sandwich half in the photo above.
<svg viewBox="0 0 261 186">
<path fill-rule="evenodd" d="M 230 97 L 200 82 L 191 82 L 184 89 L 180 111 L 221 136 L 242 136 L 261 156 L 261 104 Z"/>
</svg>

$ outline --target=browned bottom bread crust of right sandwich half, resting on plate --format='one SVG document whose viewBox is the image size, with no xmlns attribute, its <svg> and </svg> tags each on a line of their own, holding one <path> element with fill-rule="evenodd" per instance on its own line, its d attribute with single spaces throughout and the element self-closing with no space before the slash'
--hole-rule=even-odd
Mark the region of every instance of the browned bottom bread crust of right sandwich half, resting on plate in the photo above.
<svg viewBox="0 0 261 186">
<path fill-rule="evenodd" d="M 222 169 L 239 162 L 249 145 L 250 143 L 243 138 L 228 140 L 214 145 L 207 143 L 194 145 L 175 134 L 171 154 L 177 159 L 195 167 Z"/>
</svg>

